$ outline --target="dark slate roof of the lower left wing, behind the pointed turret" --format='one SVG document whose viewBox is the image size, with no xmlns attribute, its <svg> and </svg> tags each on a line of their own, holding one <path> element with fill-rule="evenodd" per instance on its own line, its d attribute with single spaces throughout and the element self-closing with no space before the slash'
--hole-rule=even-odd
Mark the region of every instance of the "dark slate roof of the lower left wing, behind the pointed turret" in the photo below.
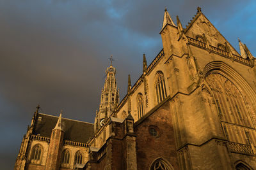
<svg viewBox="0 0 256 170">
<path fill-rule="evenodd" d="M 39 117 L 42 120 L 38 120 Z M 58 121 L 58 117 L 38 113 L 38 118 L 33 134 L 51 138 L 51 132 Z M 61 125 L 64 131 L 64 140 L 86 143 L 94 135 L 93 124 L 88 122 L 61 118 Z"/>
</svg>

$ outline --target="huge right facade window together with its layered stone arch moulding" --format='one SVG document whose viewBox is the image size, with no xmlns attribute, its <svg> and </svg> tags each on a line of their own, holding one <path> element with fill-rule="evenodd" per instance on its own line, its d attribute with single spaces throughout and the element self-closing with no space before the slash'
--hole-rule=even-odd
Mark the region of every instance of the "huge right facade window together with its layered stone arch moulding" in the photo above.
<svg viewBox="0 0 256 170">
<path fill-rule="evenodd" d="M 256 144 L 255 92 L 232 67 L 224 62 L 207 64 L 201 83 L 210 87 L 216 113 L 228 141 L 250 145 Z M 208 88 L 209 89 L 209 88 Z"/>
</svg>

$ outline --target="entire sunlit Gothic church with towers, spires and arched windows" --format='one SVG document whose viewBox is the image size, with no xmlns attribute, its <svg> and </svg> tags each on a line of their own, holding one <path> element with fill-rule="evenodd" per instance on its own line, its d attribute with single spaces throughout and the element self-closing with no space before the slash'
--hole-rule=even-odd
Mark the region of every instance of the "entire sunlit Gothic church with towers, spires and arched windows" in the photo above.
<svg viewBox="0 0 256 170">
<path fill-rule="evenodd" d="M 197 8 L 188 26 L 164 10 L 163 49 L 119 99 L 106 69 L 94 124 L 36 108 L 15 169 L 256 169 L 256 62 Z"/>
</svg>

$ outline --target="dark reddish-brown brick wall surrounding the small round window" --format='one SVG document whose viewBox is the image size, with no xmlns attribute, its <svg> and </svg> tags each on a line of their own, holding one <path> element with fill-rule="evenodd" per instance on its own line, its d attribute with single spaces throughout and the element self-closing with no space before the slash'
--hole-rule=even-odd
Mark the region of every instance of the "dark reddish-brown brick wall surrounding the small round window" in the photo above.
<svg viewBox="0 0 256 170">
<path fill-rule="evenodd" d="M 159 157 L 168 160 L 174 169 L 179 169 L 173 120 L 169 110 L 169 101 L 166 101 L 149 117 L 136 125 L 134 131 L 138 169 L 149 169 L 150 164 Z M 149 133 L 151 127 L 156 129 L 156 137 Z"/>
</svg>

